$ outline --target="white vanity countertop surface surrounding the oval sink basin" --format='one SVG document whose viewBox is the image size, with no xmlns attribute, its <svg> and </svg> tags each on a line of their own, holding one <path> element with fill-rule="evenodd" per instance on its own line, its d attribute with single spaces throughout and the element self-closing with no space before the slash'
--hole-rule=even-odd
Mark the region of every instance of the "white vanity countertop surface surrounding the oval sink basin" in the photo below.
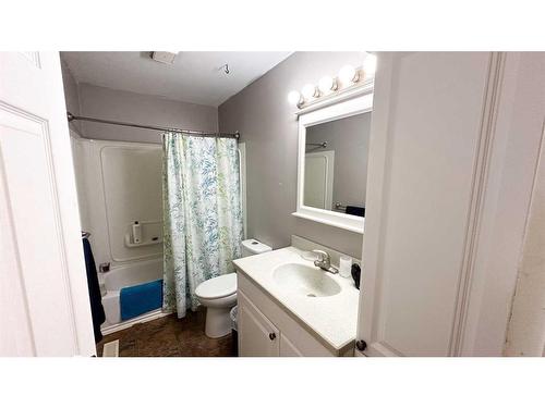
<svg viewBox="0 0 545 408">
<path fill-rule="evenodd" d="M 352 277 L 329 274 L 341 286 L 341 292 L 325 297 L 306 297 L 290 293 L 272 277 L 274 270 L 284 263 L 314 267 L 312 261 L 303 258 L 306 254 L 308 252 L 287 247 L 233 262 L 241 273 L 288 309 L 313 331 L 314 335 L 322 337 L 334 349 L 341 350 L 355 339 L 360 290 L 355 288 Z"/>
</svg>

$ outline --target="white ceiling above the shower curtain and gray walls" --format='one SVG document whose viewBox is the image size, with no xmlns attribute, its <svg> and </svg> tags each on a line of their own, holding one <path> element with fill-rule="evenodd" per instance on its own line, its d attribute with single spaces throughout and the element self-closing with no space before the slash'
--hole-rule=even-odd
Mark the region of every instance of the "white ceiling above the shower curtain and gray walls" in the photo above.
<svg viewBox="0 0 545 408">
<path fill-rule="evenodd" d="M 78 83 L 218 107 L 290 53 L 179 52 L 172 65 L 152 60 L 148 51 L 61 52 L 61 58 Z"/>
</svg>

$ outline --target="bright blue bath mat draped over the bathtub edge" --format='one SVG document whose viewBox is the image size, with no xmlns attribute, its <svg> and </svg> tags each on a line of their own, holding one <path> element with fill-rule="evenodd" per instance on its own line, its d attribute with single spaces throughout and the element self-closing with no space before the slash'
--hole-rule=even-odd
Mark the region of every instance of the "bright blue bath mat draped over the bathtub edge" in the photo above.
<svg viewBox="0 0 545 408">
<path fill-rule="evenodd" d="M 162 280 L 121 288 L 119 302 L 121 306 L 121 320 L 132 319 L 161 308 Z"/>
</svg>

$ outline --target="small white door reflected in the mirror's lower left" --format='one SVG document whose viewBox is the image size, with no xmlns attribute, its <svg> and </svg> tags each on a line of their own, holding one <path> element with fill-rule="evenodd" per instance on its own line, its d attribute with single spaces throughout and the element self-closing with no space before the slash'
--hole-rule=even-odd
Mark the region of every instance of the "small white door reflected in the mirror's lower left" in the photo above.
<svg viewBox="0 0 545 408">
<path fill-rule="evenodd" d="M 331 210 L 335 151 L 305 154 L 304 205 Z"/>
</svg>

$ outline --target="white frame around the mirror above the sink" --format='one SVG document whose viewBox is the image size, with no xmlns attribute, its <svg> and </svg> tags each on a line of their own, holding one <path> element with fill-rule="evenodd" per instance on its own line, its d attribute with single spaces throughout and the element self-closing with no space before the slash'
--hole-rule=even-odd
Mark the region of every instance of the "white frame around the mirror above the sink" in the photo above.
<svg viewBox="0 0 545 408">
<path fill-rule="evenodd" d="M 353 116 L 373 110 L 373 87 L 362 87 L 359 95 L 350 95 L 350 99 L 339 98 L 329 100 L 325 108 L 310 107 L 302 109 L 299 114 L 299 152 L 298 152 L 298 207 L 292 215 L 336 226 L 339 228 L 363 234 L 365 219 L 341 212 L 323 210 L 304 205 L 304 160 L 306 128 L 320 123 Z"/>
</svg>

